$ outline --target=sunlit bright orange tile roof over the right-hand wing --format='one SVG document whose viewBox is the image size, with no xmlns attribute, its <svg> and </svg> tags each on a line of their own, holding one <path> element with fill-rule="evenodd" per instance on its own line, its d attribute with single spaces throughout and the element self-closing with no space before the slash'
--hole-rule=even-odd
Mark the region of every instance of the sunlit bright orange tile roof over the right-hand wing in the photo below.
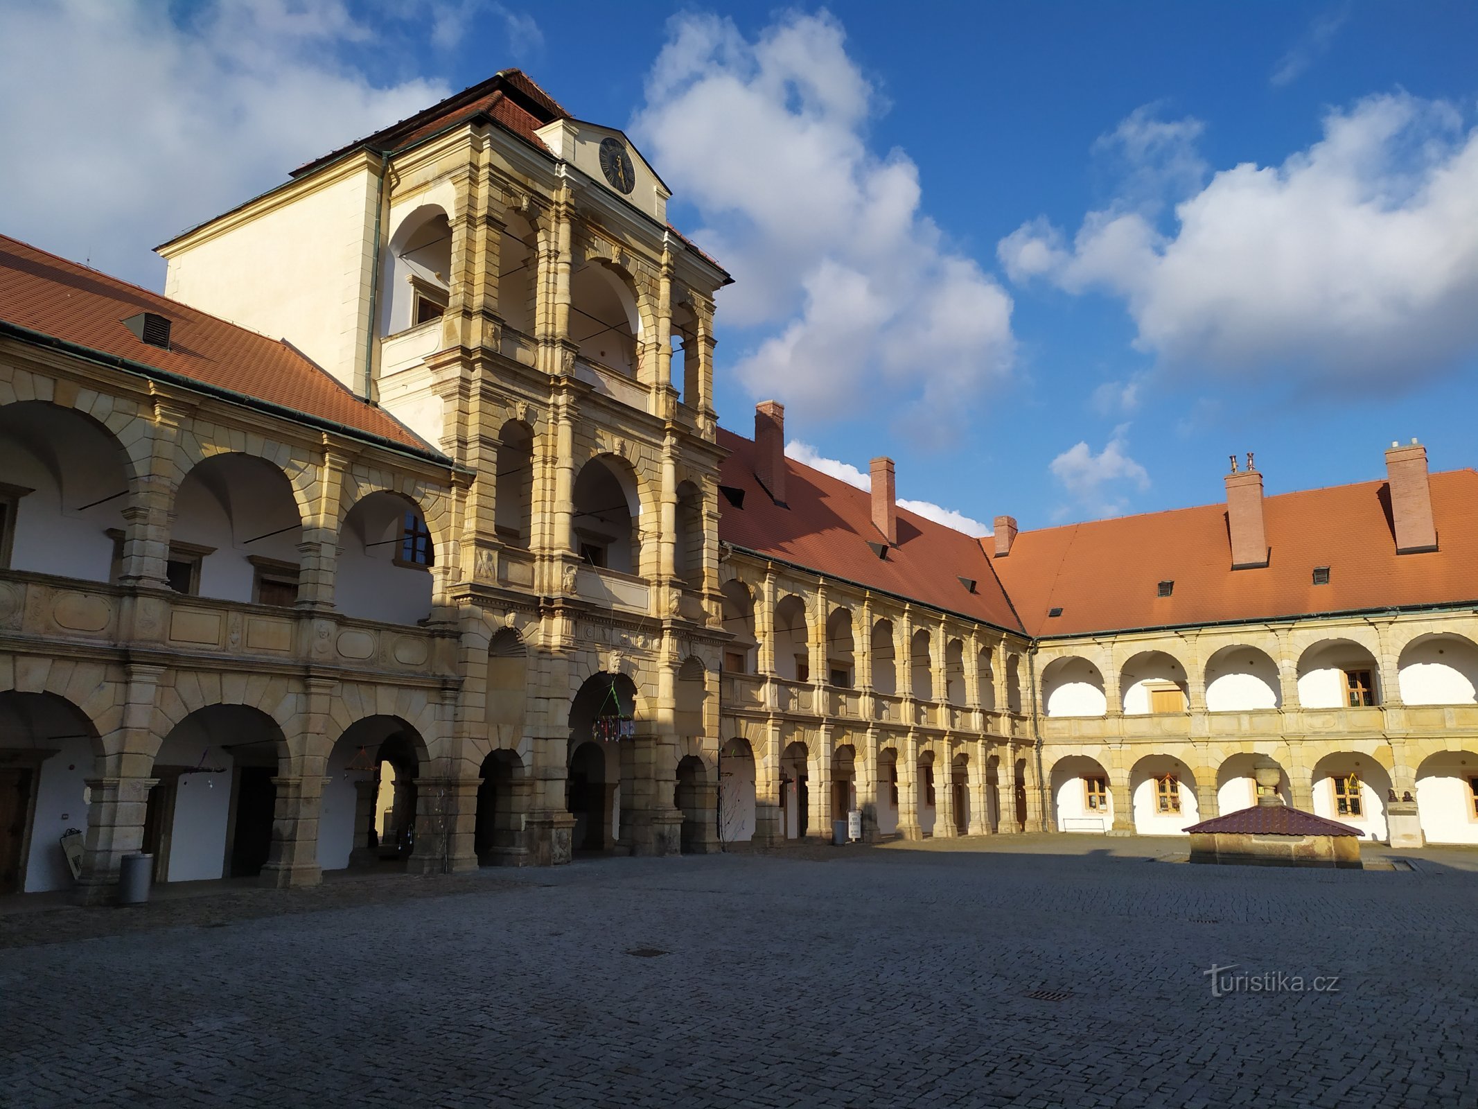
<svg viewBox="0 0 1478 1109">
<path fill-rule="evenodd" d="M 1478 473 L 1431 482 L 1429 553 L 1395 553 L 1389 489 L 1373 481 L 1264 498 L 1259 569 L 1231 569 L 1225 504 L 1023 531 L 992 563 L 1035 636 L 1478 600 Z M 1312 584 L 1315 566 L 1329 584 Z M 1160 581 L 1175 583 L 1169 597 Z"/>
</svg>

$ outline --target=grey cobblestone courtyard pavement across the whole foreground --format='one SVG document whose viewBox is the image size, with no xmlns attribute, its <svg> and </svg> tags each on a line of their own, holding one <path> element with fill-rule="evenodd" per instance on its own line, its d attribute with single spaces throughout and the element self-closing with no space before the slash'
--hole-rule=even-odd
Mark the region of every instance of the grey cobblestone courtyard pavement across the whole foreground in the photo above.
<svg viewBox="0 0 1478 1109">
<path fill-rule="evenodd" d="M 1060 844 L 579 861 L 33 937 L 0 951 L 0 1103 L 1478 1106 L 1474 869 Z M 1305 989 L 1213 997 L 1213 964 Z"/>
</svg>

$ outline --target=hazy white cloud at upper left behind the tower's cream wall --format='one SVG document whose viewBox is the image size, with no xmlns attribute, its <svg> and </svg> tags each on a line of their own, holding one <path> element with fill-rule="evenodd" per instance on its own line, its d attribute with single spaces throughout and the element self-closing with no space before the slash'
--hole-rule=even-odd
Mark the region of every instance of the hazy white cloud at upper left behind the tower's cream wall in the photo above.
<svg viewBox="0 0 1478 1109">
<path fill-rule="evenodd" d="M 337 0 L 0 4 L 6 232 L 157 285 L 157 243 L 446 95 L 340 61 L 374 46 Z"/>
</svg>

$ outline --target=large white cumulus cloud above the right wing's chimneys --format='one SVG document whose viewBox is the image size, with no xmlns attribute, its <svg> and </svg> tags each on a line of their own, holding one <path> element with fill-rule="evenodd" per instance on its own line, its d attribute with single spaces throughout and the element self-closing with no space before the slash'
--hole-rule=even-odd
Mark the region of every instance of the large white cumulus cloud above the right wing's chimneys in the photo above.
<svg viewBox="0 0 1478 1109">
<path fill-rule="evenodd" d="M 1372 96 L 1281 166 L 1222 170 L 1162 231 L 1132 204 L 1072 243 L 998 244 L 1012 281 L 1125 300 L 1137 346 L 1181 371 L 1401 389 L 1478 349 L 1478 130 L 1450 104 Z"/>
</svg>

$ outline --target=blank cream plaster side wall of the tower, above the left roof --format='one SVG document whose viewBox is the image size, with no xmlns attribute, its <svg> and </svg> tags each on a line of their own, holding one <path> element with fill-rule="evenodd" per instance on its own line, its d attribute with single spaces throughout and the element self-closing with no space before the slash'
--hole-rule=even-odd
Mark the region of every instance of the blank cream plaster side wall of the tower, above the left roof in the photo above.
<svg viewBox="0 0 1478 1109">
<path fill-rule="evenodd" d="M 346 386 L 368 339 L 374 173 L 365 167 L 168 259 L 166 296 L 287 339 Z"/>
</svg>

